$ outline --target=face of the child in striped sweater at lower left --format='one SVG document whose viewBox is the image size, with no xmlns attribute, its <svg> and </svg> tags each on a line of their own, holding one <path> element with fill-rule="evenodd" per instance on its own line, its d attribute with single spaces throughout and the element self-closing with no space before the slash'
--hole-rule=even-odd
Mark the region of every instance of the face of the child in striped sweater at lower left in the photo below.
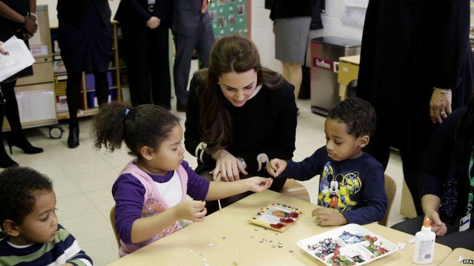
<svg viewBox="0 0 474 266">
<path fill-rule="evenodd" d="M 36 202 L 30 214 L 17 226 L 18 235 L 11 236 L 18 245 L 48 243 L 58 232 L 54 191 L 36 191 Z"/>
</svg>

